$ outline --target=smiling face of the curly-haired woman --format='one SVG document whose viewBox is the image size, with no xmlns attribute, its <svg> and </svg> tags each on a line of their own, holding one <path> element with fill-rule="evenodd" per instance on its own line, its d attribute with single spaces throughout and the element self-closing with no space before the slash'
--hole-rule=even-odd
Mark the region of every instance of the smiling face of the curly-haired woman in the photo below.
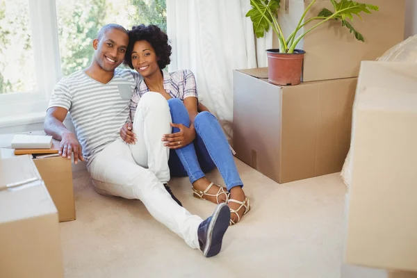
<svg viewBox="0 0 417 278">
<path fill-rule="evenodd" d="M 143 77 L 148 77 L 159 72 L 158 57 L 155 49 L 146 40 L 138 40 L 133 45 L 131 54 L 132 65 Z"/>
</svg>

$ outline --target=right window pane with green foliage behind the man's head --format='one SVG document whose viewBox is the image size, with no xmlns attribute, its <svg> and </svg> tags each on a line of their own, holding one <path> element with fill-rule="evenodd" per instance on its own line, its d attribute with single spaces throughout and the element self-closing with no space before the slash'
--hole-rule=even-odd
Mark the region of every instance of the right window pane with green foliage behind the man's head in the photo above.
<svg viewBox="0 0 417 278">
<path fill-rule="evenodd" d="M 167 26 L 165 0 L 56 0 L 56 13 L 64 76 L 90 65 L 92 40 L 104 24 L 116 23 L 128 30 L 142 23 L 164 31 Z"/>
</svg>

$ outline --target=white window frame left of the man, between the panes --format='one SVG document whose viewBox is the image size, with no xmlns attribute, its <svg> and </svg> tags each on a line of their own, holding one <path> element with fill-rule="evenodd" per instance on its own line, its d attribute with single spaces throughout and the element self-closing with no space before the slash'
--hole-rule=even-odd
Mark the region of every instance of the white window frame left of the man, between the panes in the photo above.
<svg viewBox="0 0 417 278">
<path fill-rule="evenodd" d="M 56 1 L 28 0 L 28 5 L 38 88 L 35 92 L 0 95 L 0 127 L 22 124 L 22 119 L 28 123 L 43 122 L 51 92 L 62 77 Z"/>
</svg>

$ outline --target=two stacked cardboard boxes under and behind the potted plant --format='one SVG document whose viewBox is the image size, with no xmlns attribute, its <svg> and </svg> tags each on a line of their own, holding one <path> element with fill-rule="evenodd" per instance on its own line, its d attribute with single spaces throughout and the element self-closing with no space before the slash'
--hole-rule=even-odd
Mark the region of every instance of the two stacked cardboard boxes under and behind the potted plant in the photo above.
<svg viewBox="0 0 417 278">
<path fill-rule="evenodd" d="M 361 60 L 375 60 L 404 34 L 404 0 L 366 2 L 379 6 L 363 22 L 354 21 L 366 42 L 340 22 L 305 36 L 299 44 L 306 51 L 300 85 L 268 83 L 268 68 L 234 71 L 233 146 L 240 160 L 279 183 L 341 171 Z M 279 22 L 291 33 L 311 1 L 281 3 Z M 331 5 L 317 1 L 306 18 Z"/>
</svg>

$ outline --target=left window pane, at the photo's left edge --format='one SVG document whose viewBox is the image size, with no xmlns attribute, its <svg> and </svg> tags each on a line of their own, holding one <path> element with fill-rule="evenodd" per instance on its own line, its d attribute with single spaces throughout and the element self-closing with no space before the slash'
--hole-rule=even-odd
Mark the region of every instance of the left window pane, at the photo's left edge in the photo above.
<svg viewBox="0 0 417 278">
<path fill-rule="evenodd" d="M 28 0 L 0 0 L 0 94 L 37 90 Z"/>
</svg>

